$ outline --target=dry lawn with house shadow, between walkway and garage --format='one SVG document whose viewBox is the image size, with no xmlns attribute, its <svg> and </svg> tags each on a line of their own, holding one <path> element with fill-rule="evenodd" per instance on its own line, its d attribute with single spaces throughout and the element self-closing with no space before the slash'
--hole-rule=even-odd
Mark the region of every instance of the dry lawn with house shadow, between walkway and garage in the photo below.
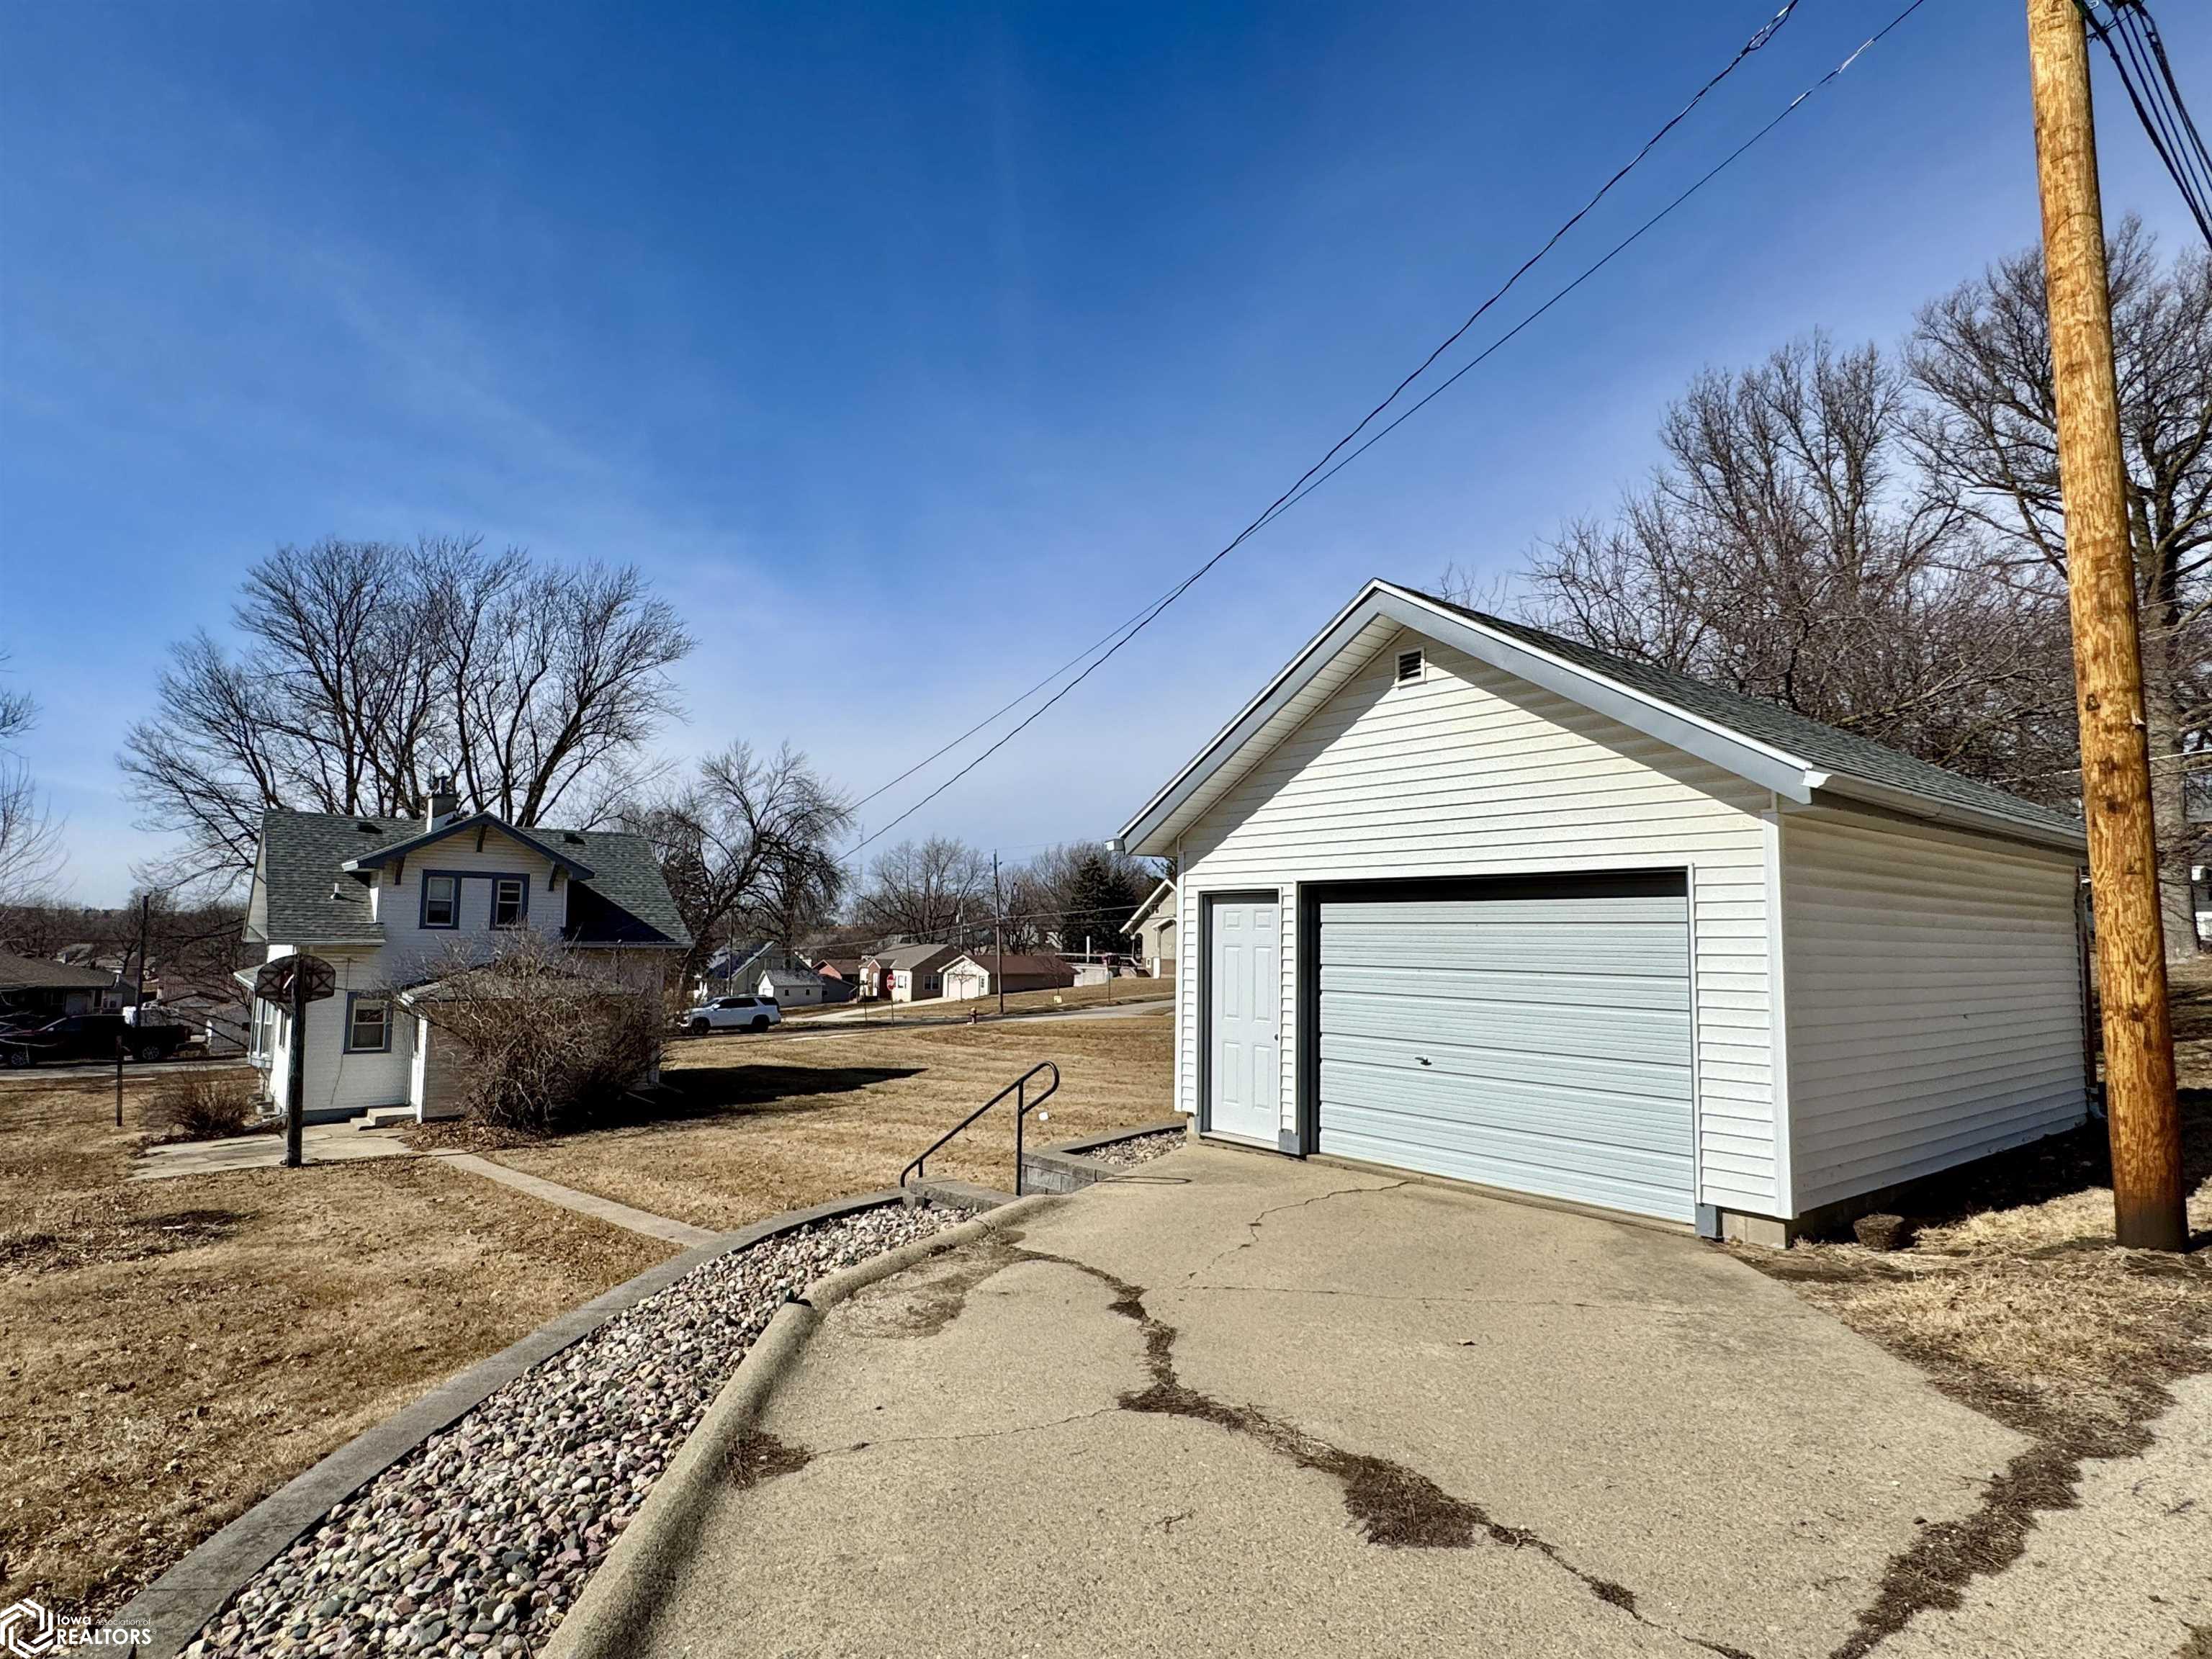
<svg viewBox="0 0 2212 1659">
<path fill-rule="evenodd" d="M 1159 1121 L 1172 1037 L 1166 1015 L 699 1037 L 675 1044 L 661 1073 L 679 1113 L 484 1150 L 639 1210 L 741 1228 L 896 1183 L 907 1159 L 1040 1060 L 1055 1060 L 1062 1082 L 1051 1117 L 1029 1119 L 1035 1144 Z M 1011 1188 L 1011 1110 L 975 1124 L 929 1172 Z"/>
</svg>

